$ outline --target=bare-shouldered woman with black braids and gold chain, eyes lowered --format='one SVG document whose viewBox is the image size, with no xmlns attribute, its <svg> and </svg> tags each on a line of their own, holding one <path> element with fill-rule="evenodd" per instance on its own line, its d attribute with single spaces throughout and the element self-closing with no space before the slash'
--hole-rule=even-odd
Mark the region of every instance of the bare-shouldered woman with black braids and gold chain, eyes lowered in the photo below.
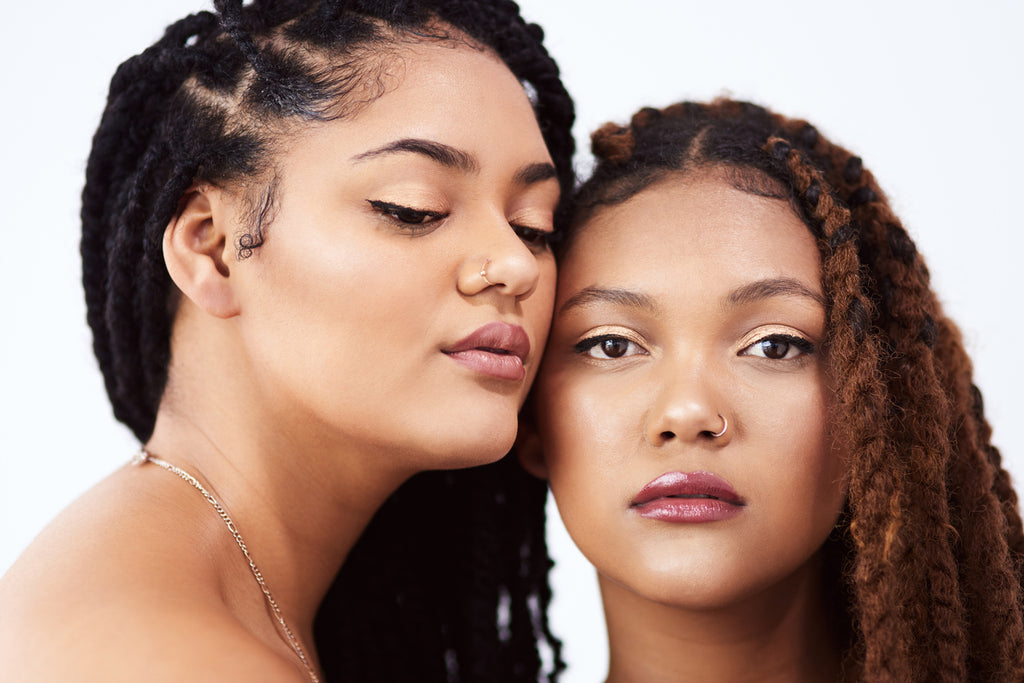
<svg viewBox="0 0 1024 683">
<path fill-rule="evenodd" d="M 542 678 L 543 485 L 427 472 L 510 449 L 545 343 L 572 105 L 542 32 L 215 5 L 111 83 L 83 281 L 145 445 L 0 582 L 0 678 Z"/>
</svg>

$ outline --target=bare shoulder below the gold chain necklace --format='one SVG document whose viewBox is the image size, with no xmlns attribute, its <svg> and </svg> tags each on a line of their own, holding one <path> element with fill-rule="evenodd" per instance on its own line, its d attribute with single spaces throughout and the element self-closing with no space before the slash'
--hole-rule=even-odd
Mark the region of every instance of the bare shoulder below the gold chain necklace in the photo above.
<svg viewBox="0 0 1024 683">
<path fill-rule="evenodd" d="M 0 680 L 305 681 L 224 604 L 204 527 L 120 490 L 101 482 L 0 578 Z"/>
</svg>

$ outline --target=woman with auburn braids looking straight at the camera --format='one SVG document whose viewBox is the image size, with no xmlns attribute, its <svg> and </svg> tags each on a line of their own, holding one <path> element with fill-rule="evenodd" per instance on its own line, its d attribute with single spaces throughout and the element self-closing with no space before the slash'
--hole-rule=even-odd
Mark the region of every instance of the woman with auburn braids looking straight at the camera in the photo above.
<svg viewBox="0 0 1024 683">
<path fill-rule="evenodd" d="M 1021 681 L 981 392 L 861 160 L 755 104 L 593 136 L 535 388 L 609 683 Z"/>
</svg>

